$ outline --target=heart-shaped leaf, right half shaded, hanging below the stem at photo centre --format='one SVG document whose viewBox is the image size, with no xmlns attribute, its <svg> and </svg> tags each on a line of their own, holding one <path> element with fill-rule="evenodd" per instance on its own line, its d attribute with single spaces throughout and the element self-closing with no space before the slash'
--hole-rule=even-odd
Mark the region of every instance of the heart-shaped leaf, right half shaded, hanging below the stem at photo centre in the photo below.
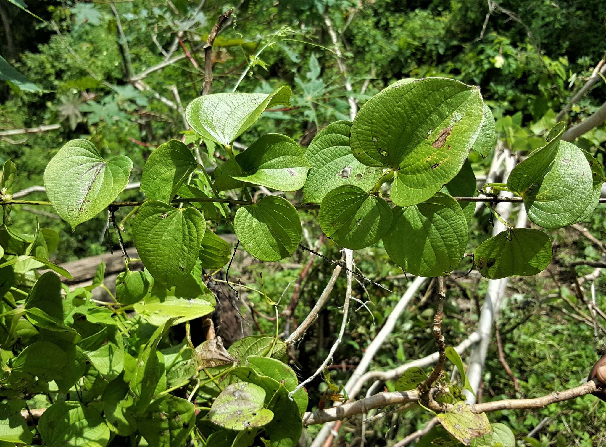
<svg viewBox="0 0 606 447">
<path fill-rule="evenodd" d="M 252 256 L 277 261 L 293 254 L 301 240 L 301 219 L 280 196 L 265 196 L 239 208 L 233 221 L 236 236 Z"/>
</svg>

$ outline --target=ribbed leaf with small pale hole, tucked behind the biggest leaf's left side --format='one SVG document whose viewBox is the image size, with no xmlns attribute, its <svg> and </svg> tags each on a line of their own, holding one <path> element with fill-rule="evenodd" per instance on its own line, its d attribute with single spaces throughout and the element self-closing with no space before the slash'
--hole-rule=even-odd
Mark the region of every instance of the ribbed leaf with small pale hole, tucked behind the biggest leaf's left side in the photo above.
<svg viewBox="0 0 606 447">
<path fill-rule="evenodd" d="M 340 185 L 355 185 L 370 191 L 378 182 L 382 167 L 369 167 L 351 153 L 351 121 L 327 125 L 311 141 L 305 158 L 311 165 L 303 187 L 303 202 L 321 203 L 324 196 Z"/>
</svg>

